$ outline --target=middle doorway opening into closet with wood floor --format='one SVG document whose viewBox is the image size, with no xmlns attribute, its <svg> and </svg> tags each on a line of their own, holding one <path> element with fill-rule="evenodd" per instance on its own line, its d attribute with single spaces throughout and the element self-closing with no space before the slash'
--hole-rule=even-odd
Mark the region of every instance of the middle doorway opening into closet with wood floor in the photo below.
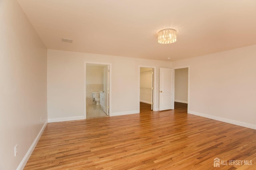
<svg viewBox="0 0 256 170">
<path fill-rule="evenodd" d="M 153 81 L 153 68 L 140 67 L 140 113 L 153 110 Z"/>
</svg>

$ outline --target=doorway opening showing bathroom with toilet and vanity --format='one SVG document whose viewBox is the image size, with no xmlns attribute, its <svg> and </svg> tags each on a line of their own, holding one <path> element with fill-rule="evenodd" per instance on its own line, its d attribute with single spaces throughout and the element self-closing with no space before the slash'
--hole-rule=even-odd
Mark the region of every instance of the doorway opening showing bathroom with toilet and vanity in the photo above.
<svg viewBox="0 0 256 170">
<path fill-rule="evenodd" d="M 86 119 L 109 115 L 110 65 L 86 63 Z"/>
</svg>

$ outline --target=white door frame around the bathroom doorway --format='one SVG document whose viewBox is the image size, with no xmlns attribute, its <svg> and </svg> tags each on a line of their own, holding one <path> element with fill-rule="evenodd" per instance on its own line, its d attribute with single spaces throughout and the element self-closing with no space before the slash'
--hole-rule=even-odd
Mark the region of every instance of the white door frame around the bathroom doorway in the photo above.
<svg viewBox="0 0 256 170">
<path fill-rule="evenodd" d="M 109 96 L 108 96 L 108 105 L 109 105 L 109 111 L 108 111 L 108 115 L 111 116 L 112 113 L 112 107 L 111 107 L 111 73 L 112 73 L 112 67 L 111 67 L 111 63 L 99 63 L 99 62 L 90 62 L 90 61 L 84 61 L 84 119 L 86 119 L 86 64 L 90 63 L 90 64 L 100 64 L 100 65 L 109 65 Z"/>
</svg>

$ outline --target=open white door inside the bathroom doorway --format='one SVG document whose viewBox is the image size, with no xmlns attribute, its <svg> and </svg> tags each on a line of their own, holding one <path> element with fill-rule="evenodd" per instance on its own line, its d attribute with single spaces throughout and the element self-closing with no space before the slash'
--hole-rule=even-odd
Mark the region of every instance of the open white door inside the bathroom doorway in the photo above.
<svg viewBox="0 0 256 170">
<path fill-rule="evenodd" d="M 109 95 L 109 65 L 104 67 L 104 112 L 108 115 L 109 104 L 108 104 L 108 95 Z"/>
</svg>

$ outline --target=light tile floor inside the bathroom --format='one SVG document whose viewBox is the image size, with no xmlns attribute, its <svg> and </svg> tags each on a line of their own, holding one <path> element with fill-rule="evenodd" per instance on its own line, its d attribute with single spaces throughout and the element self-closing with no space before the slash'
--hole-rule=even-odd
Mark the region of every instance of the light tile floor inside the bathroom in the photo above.
<svg viewBox="0 0 256 170">
<path fill-rule="evenodd" d="M 94 117 L 105 117 L 108 116 L 100 107 L 100 105 L 95 105 L 93 102 L 88 102 L 89 104 L 86 105 L 86 119 L 94 118 Z"/>
</svg>

